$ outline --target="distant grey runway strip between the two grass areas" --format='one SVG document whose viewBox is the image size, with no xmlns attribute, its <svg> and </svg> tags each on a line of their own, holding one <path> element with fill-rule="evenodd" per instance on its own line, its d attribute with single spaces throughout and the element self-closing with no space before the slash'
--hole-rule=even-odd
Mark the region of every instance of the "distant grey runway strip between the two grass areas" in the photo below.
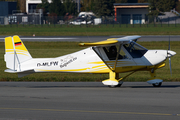
<svg viewBox="0 0 180 120">
<path fill-rule="evenodd" d="M 0 36 L 0 42 L 4 42 L 4 38 L 7 36 Z M 45 37 L 45 36 L 20 36 L 23 41 L 75 41 L 75 42 L 97 42 L 102 40 L 107 40 L 108 38 L 120 38 L 124 36 L 59 36 L 59 37 Z M 180 41 L 180 35 L 171 35 L 171 36 L 142 36 L 140 40 L 142 42 L 149 41 L 169 41 L 169 37 L 171 41 Z"/>
</svg>

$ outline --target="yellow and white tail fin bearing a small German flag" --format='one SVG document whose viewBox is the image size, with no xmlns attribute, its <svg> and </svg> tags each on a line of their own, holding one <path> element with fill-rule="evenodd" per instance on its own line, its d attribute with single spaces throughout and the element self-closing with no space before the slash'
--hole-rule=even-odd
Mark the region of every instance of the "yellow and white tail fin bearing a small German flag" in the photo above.
<svg viewBox="0 0 180 120">
<path fill-rule="evenodd" d="M 7 68 L 12 69 L 13 71 L 21 71 L 20 64 L 31 58 L 31 55 L 19 36 L 5 38 L 4 60 Z"/>
</svg>

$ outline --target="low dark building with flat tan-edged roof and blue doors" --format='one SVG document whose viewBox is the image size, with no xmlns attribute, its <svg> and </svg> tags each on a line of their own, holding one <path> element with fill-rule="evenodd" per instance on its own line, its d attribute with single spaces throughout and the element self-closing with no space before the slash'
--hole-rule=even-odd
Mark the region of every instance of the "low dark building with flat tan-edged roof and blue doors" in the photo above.
<svg viewBox="0 0 180 120">
<path fill-rule="evenodd" d="M 114 3 L 115 21 L 121 24 L 145 24 L 149 3 Z"/>
</svg>

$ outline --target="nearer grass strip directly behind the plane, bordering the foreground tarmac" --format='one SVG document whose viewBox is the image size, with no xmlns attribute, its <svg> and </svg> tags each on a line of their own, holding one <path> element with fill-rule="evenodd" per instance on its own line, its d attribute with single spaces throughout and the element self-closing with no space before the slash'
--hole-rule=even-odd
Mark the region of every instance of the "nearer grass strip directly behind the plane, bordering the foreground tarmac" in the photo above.
<svg viewBox="0 0 180 120">
<path fill-rule="evenodd" d="M 77 42 L 24 42 L 33 58 L 57 57 L 83 49 Z M 167 49 L 168 42 L 139 42 L 148 49 Z M 172 57 L 172 77 L 169 64 L 157 70 L 157 76 L 164 81 L 180 81 L 180 42 L 171 42 L 171 50 L 176 51 Z M 17 74 L 5 73 L 4 43 L 0 42 L 0 81 L 102 81 L 108 78 L 108 74 L 75 74 L 75 73 L 35 73 L 18 78 Z M 124 76 L 127 73 L 122 73 Z M 147 81 L 150 74 L 147 71 L 139 71 L 125 79 L 125 81 Z"/>
</svg>

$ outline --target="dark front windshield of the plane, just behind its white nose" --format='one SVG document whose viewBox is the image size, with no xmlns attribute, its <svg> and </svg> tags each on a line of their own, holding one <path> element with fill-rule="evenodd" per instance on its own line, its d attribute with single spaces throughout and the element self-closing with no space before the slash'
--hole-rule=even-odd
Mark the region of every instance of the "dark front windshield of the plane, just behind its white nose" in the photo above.
<svg viewBox="0 0 180 120">
<path fill-rule="evenodd" d="M 123 46 L 133 58 L 141 58 L 147 52 L 146 48 L 133 41 L 130 44 L 125 44 Z"/>
</svg>

